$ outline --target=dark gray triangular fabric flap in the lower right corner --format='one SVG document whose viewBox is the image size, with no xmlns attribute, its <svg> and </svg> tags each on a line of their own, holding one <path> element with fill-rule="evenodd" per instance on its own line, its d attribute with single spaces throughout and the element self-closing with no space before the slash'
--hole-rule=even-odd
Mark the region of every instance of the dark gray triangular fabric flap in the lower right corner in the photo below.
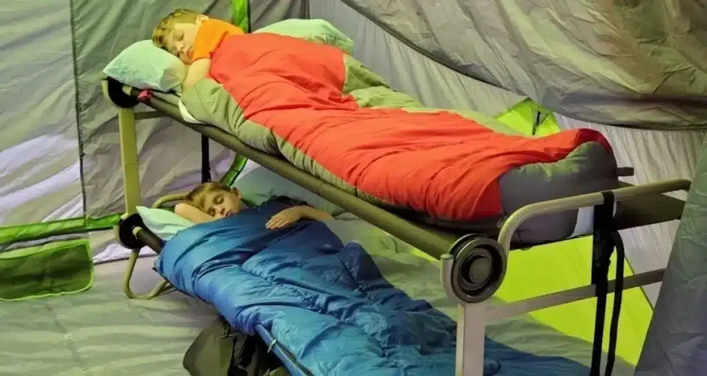
<svg viewBox="0 0 707 376">
<path fill-rule="evenodd" d="M 703 376 L 707 370 L 706 187 L 707 155 L 703 154 L 677 229 L 636 376 Z"/>
</svg>

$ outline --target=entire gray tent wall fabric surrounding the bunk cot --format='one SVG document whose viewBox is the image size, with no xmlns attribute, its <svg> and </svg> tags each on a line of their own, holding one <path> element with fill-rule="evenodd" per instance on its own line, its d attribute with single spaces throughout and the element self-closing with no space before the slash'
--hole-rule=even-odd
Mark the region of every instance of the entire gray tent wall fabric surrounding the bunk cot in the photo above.
<svg viewBox="0 0 707 376">
<path fill-rule="evenodd" d="M 322 2 L 332 4 L 323 7 Z M 627 181 L 644 183 L 692 178 L 698 170 L 706 110 L 678 105 L 670 98 L 707 95 L 703 22 L 707 7 L 702 3 L 262 0 L 250 4 L 250 19 L 253 29 L 285 18 L 339 20 L 337 27 L 356 42 L 357 57 L 394 88 L 431 106 L 497 114 L 530 97 L 555 110 L 563 128 L 602 131 L 617 151 L 619 164 L 636 168 L 636 176 Z M 226 19 L 231 14 L 230 0 L 46 0 L 4 5 L 0 225 L 97 218 L 122 211 L 116 110 L 100 91 L 101 71 L 132 42 L 147 39 L 160 18 L 180 7 Z M 346 12 L 354 9 L 370 23 L 353 23 Z M 390 33 L 397 39 L 390 39 Z M 395 56 L 375 54 L 396 48 L 402 54 L 400 46 L 406 42 L 434 59 L 400 69 Z M 390 44 L 380 47 L 382 43 Z M 440 73 L 429 82 L 416 79 L 423 76 L 416 71 L 433 68 L 463 75 Z M 485 94 L 475 95 L 477 91 Z M 638 93 L 652 101 L 638 102 L 634 97 Z M 617 124 L 660 131 L 614 127 Z M 144 120 L 138 128 L 144 204 L 197 184 L 197 134 L 168 119 Z M 212 143 L 216 175 L 226 170 L 232 155 Z M 706 165 L 703 160 L 699 171 L 705 172 Z M 704 227 L 700 213 L 707 202 L 700 189 L 707 184 L 702 181 L 706 174 L 696 176 L 679 227 L 666 223 L 624 233 L 634 270 L 668 263 L 665 293 L 655 307 L 639 376 L 691 376 L 703 370 L 699 339 L 691 341 L 694 346 L 671 353 L 665 349 L 677 348 L 688 341 L 686 337 L 705 331 L 703 320 L 692 315 L 699 312 L 674 307 L 702 300 L 706 262 L 699 228 Z M 88 236 L 97 262 L 127 255 L 111 231 Z M 655 301 L 658 286 L 647 291 Z"/>
</svg>

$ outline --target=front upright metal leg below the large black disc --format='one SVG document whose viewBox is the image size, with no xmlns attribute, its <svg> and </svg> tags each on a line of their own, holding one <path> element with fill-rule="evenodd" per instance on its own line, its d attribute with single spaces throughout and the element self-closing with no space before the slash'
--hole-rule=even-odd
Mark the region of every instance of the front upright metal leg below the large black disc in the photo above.
<svg viewBox="0 0 707 376">
<path fill-rule="evenodd" d="M 457 311 L 455 376 L 484 376 L 486 303 L 465 303 Z"/>
</svg>

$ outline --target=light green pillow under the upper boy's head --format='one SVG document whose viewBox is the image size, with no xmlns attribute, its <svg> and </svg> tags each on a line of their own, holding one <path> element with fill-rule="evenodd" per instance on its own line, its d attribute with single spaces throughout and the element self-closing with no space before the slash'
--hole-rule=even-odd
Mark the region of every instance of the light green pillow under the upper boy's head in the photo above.
<svg viewBox="0 0 707 376">
<path fill-rule="evenodd" d="M 120 52 L 103 73 L 134 88 L 181 93 L 187 66 L 151 40 L 141 40 Z"/>
</svg>

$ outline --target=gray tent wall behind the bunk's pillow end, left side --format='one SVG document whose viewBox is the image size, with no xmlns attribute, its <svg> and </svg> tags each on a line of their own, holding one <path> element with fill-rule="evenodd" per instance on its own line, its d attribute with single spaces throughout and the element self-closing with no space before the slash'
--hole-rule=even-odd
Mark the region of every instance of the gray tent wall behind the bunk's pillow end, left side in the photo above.
<svg viewBox="0 0 707 376">
<path fill-rule="evenodd" d="M 122 49 L 148 39 L 175 8 L 230 19 L 230 0 L 8 3 L 0 10 L 0 226 L 122 212 L 117 111 L 100 88 L 103 67 Z M 254 1 L 253 27 L 307 16 L 305 0 Z M 148 110 L 139 106 L 139 110 Z M 143 204 L 199 182 L 199 135 L 169 119 L 137 124 Z M 233 152 L 211 143 L 212 170 Z M 88 235 L 95 261 L 127 255 L 112 231 Z M 45 240 L 46 241 L 50 241 Z"/>
</svg>

